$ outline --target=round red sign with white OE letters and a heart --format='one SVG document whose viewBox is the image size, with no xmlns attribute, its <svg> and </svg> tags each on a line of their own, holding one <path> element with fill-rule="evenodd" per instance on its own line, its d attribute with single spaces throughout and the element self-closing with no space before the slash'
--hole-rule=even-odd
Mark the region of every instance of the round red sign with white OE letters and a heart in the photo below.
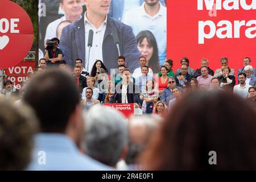
<svg viewBox="0 0 256 182">
<path fill-rule="evenodd" d="M 13 67 L 24 59 L 33 43 L 30 17 L 14 2 L 0 1 L 0 69 Z"/>
</svg>

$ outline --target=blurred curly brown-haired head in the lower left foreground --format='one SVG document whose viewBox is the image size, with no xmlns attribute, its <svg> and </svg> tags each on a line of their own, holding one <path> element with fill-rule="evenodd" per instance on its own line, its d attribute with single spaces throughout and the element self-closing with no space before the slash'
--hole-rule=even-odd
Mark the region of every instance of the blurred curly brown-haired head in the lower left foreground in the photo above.
<svg viewBox="0 0 256 182">
<path fill-rule="evenodd" d="M 38 120 L 32 109 L 0 99 L 0 170 L 24 170 L 30 163 Z"/>
</svg>

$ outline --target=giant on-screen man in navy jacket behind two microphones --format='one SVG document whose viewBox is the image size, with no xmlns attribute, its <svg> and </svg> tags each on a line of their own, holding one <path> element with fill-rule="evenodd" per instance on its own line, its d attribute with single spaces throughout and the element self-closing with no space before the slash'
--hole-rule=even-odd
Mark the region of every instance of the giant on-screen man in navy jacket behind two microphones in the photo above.
<svg viewBox="0 0 256 182">
<path fill-rule="evenodd" d="M 93 58 L 97 57 L 97 59 L 102 59 L 109 73 L 110 69 L 117 68 L 116 59 L 119 55 L 112 32 L 112 27 L 116 27 L 120 54 L 125 56 L 127 67 L 132 72 L 135 68 L 139 67 L 137 60 L 139 56 L 141 56 L 141 53 L 138 50 L 133 30 L 130 26 L 108 15 L 110 2 L 110 0 L 102 3 L 99 1 L 84 0 L 87 8 L 86 13 L 80 20 L 63 28 L 60 38 L 60 48 L 63 50 L 67 64 L 74 67 L 72 60 L 80 57 L 83 66 L 88 65 L 88 63 L 91 65 L 93 64 L 91 62 L 95 60 L 93 60 Z M 97 39 L 98 42 L 93 42 L 92 48 L 90 49 L 90 60 L 88 62 L 89 56 L 86 50 L 89 50 L 89 48 L 88 45 L 85 44 L 88 36 L 85 35 L 88 35 L 89 30 L 93 30 L 93 39 Z M 101 34 L 102 36 L 99 36 Z"/>
</svg>

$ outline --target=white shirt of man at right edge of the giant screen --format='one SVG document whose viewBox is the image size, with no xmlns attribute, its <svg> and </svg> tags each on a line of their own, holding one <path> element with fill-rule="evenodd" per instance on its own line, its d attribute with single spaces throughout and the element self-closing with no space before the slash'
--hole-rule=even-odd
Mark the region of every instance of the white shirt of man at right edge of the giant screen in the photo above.
<svg viewBox="0 0 256 182">
<path fill-rule="evenodd" d="M 154 34 L 158 43 L 158 56 L 160 65 L 166 60 L 166 44 L 167 44 L 167 9 L 160 2 L 160 9 L 155 16 L 147 14 L 143 4 L 135 9 L 126 11 L 123 15 L 122 22 L 133 28 L 134 35 L 142 30 L 149 30 Z"/>
</svg>

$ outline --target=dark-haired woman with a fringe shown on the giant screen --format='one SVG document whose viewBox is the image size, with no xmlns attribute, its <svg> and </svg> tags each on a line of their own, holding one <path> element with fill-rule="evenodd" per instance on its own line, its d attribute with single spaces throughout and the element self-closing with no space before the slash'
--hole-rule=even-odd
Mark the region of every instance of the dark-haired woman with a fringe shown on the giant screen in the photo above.
<svg viewBox="0 0 256 182">
<path fill-rule="evenodd" d="M 144 30 L 136 36 L 137 45 L 141 55 L 146 57 L 147 66 L 152 69 L 154 73 L 160 71 L 159 57 L 158 57 L 158 44 L 156 43 L 155 36 L 151 31 Z"/>
</svg>

